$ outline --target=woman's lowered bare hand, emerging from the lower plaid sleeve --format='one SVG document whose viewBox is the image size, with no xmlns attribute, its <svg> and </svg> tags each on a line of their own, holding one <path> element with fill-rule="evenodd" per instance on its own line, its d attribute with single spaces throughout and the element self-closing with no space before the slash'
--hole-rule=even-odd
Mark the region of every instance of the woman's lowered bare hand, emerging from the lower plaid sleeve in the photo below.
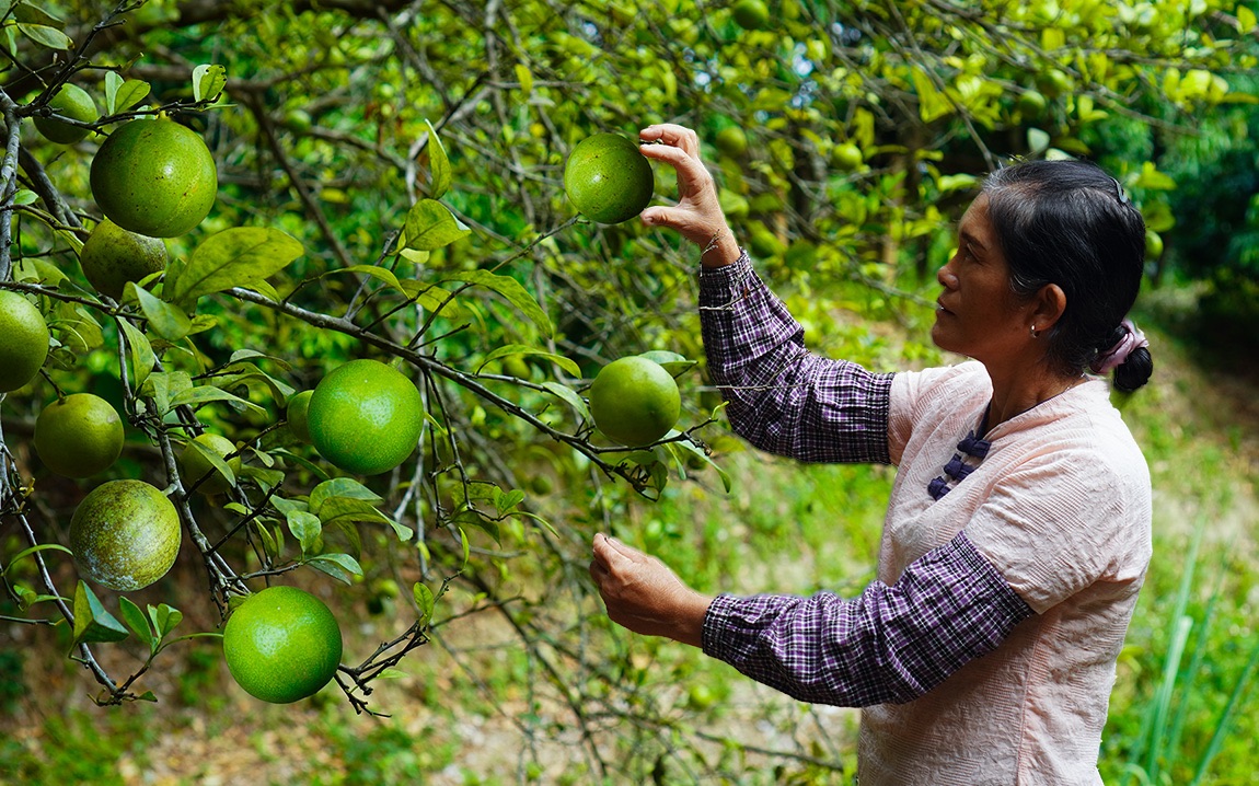
<svg viewBox="0 0 1259 786">
<path fill-rule="evenodd" d="M 613 622 L 703 646 L 704 615 L 713 598 L 684 584 L 660 559 L 602 533 L 594 535 L 593 548 L 590 578 Z"/>
</svg>

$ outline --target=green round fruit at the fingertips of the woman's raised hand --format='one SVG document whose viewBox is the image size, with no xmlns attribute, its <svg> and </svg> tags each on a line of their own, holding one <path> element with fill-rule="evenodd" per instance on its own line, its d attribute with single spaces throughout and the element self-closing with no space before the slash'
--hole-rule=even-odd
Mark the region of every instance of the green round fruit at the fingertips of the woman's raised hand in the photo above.
<svg viewBox="0 0 1259 786">
<path fill-rule="evenodd" d="M 642 213 L 655 188 L 647 157 L 618 134 L 585 137 L 564 165 L 564 190 L 573 207 L 601 224 L 619 224 Z"/>
</svg>

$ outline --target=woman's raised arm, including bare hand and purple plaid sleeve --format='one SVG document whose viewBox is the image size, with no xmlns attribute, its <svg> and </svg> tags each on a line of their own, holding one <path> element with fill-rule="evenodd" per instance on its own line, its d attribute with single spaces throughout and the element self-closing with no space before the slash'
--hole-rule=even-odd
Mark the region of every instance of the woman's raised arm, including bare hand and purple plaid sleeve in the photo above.
<svg viewBox="0 0 1259 786">
<path fill-rule="evenodd" d="M 803 330 L 752 271 L 718 204 L 690 128 L 640 132 L 642 154 L 677 171 L 679 202 L 642 212 L 701 248 L 700 315 L 709 373 L 734 430 L 762 450 L 805 461 L 889 462 L 890 374 L 812 355 Z"/>
</svg>

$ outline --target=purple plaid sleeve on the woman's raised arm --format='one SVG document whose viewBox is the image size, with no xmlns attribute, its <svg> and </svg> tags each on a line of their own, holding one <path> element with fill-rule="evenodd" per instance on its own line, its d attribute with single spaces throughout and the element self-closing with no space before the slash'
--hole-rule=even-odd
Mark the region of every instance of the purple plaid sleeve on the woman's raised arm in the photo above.
<svg viewBox="0 0 1259 786">
<path fill-rule="evenodd" d="M 802 461 L 889 464 L 891 374 L 805 349 L 805 330 L 752 270 L 700 275 L 700 324 L 709 374 L 735 433 Z"/>
</svg>

